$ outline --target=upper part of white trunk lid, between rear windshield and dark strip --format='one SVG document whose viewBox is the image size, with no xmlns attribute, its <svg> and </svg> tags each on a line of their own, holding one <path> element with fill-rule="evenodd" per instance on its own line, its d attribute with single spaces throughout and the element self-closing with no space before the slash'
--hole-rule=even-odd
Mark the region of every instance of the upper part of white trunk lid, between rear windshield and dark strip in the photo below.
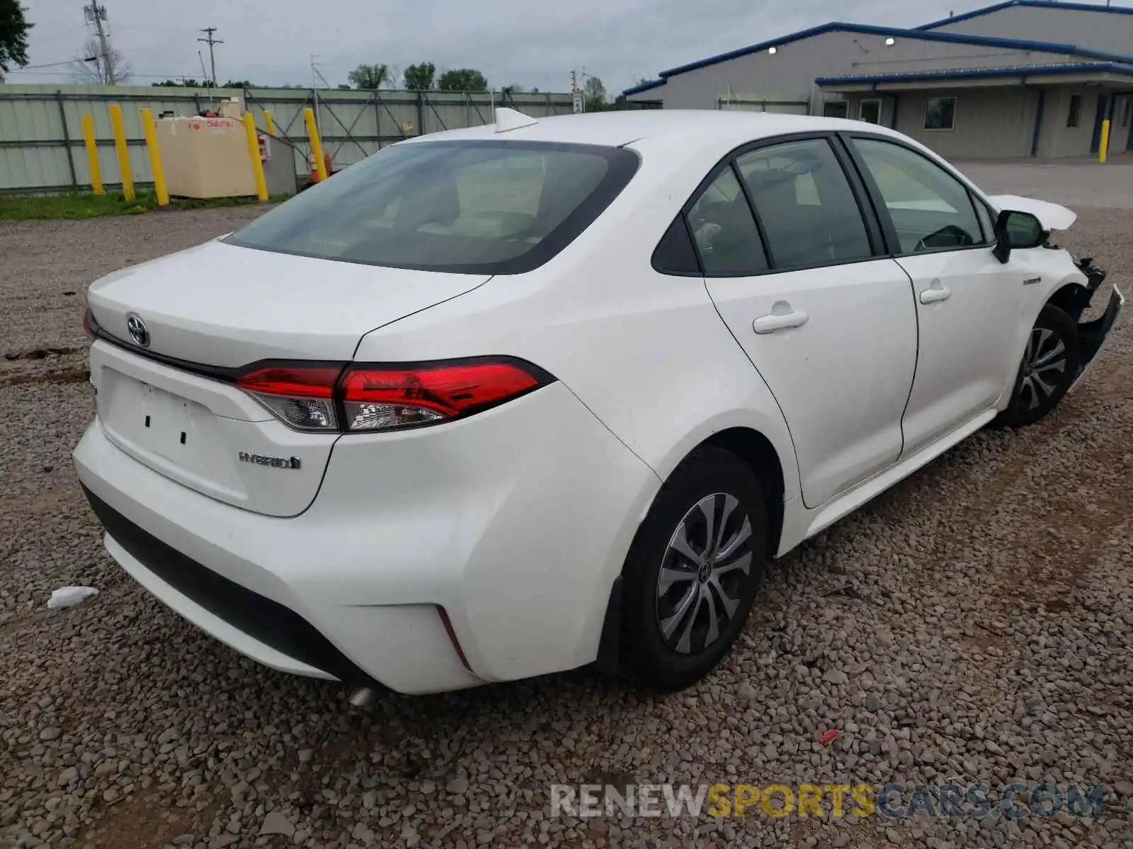
<svg viewBox="0 0 1133 849">
<path fill-rule="evenodd" d="M 263 359 L 349 360 L 382 325 L 455 298 L 488 275 L 441 274 L 206 242 L 96 281 L 87 302 L 104 331 L 208 366 Z"/>
</svg>

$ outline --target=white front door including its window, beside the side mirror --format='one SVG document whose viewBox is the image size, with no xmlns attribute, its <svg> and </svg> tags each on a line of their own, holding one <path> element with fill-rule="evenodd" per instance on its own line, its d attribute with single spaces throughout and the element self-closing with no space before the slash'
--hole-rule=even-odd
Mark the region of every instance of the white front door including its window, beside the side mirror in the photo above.
<svg viewBox="0 0 1133 849">
<path fill-rule="evenodd" d="M 996 405 L 1010 363 L 1022 355 L 1012 333 L 1022 281 L 993 256 L 990 213 L 956 177 L 895 142 L 854 137 L 852 145 L 917 299 L 908 454 Z"/>
</svg>

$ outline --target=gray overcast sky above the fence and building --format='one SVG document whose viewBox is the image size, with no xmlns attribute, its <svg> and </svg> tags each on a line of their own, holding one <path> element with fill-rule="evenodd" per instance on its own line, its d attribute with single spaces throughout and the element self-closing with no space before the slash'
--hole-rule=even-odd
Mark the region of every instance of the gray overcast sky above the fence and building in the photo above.
<svg viewBox="0 0 1133 849">
<path fill-rule="evenodd" d="M 908 27 L 979 0 L 104 0 L 112 43 L 131 82 L 201 78 L 199 27 L 215 26 L 216 76 L 310 84 L 310 54 L 344 83 L 359 62 L 432 61 L 482 70 L 491 85 L 564 92 L 570 70 L 600 77 L 611 96 L 638 77 L 830 20 Z M 88 31 L 84 0 L 23 0 L 31 65 L 63 62 Z M 988 0 L 990 2 L 990 0 Z M 66 67 L 12 72 L 10 83 L 69 83 Z M 399 80 L 400 82 L 400 80 Z"/>
</svg>

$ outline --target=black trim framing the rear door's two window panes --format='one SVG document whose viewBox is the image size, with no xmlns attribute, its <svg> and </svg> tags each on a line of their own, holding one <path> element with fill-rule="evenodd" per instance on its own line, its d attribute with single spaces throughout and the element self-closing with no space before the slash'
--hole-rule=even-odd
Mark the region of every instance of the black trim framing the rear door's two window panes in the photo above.
<svg viewBox="0 0 1133 849">
<path fill-rule="evenodd" d="M 844 142 L 841 139 L 841 134 L 834 130 L 819 130 L 809 132 L 785 132 L 778 136 L 768 136 L 767 138 L 756 139 L 753 142 L 746 142 L 738 147 L 732 148 L 726 154 L 724 154 L 715 165 L 709 169 L 708 173 L 697 183 L 697 187 L 692 190 L 685 201 L 681 205 L 681 209 L 678 213 L 684 220 L 684 226 L 688 229 L 689 220 L 688 213 L 692 208 L 693 204 L 700 198 L 700 195 L 708 189 L 716 178 L 719 177 L 721 172 L 726 168 L 734 168 L 736 172 L 736 178 L 740 180 L 740 188 L 743 191 L 743 197 L 748 201 L 748 208 L 751 211 L 751 215 L 756 220 L 756 226 L 759 229 L 759 237 L 764 243 L 764 255 L 767 257 L 768 267 L 766 271 L 761 272 L 746 272 L 742 274 L 705 274 L 704 263 L 700 259 L 700 252 L 697 251 L 697 263 L 700 265 L 701 274 L 700 276 L 705 280 L 717 280 L 717 278 L 729 278 L 729 277 L 763 277 L 768 274 L 791 274 L 793 272 L 809 271 L 811 268 L 828 268 L 836 265 L 855 265 L 858 263 L 872 263 L 878 259 L 887 259 L 891 255 L 888 254 L 886 239 L 884 230 L 880 222 L 877 218 L 877 209 L 875 208 L 875 201 L 869 197 L 864 183 L 861 181 L 860 175 L 854 168 L 853 161 L 850 155 L 844 149 Z M 759 212 L 755 208 L 751 203 L 751 192 L 748 189 L 747 181 L 743 180 L 743 175 L 739 173 L 739 166 L 735 165 L 735 161 L 743 156 L 744 154 L 751 153 L 752 151 L 759 151 L 765 147 L 776 147 L 778 145 L 787 144 L 791 142 L 810 142 L 813 139 L 825 139 L 834 152 L 834 156 L 842 168 L 842 173 L 845 174 L 846 182 L 850 185 L 850 191 L 853 195 L 854 203 L 858 205 L 858 213 L 861 215 L 862 224 L 866 228 L 866 238 L 869 240 L 870 256 L 859 257 L 858 259 L 833 259 L 825 263 L 811 263 L 809 265 L 796 265 L 789 268 L 778 268 L 775 266 L 774 255 L 767 245 L 767 234 L 764 231 L 763 220 L 759 216 Z M 668 225 L 665 226 L 665 231 L 661 234 L 663 239 L 665 232 L 668 231 Z M 659 239 L 658 239 L 659 243 Z M 693 240 L 695 247 L 695 240 Z M 656 248 L 655 248 L 656 249 Z M 655 269 L 657 271 L 657 269 Z M 661 274 L 666 274 L 673 277 L 691 277 L 691 274 L 675 274 L 672 272 L 659 272 Z"/>
</svg>

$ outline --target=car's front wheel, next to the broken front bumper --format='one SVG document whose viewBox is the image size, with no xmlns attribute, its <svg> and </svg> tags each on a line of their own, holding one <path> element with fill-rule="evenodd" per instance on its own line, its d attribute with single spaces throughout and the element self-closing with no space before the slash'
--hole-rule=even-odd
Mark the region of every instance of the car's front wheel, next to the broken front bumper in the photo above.
<svg viewBox="0 0 1133 849">
<path fill-rule="evenodd" d="M 1077 375 L 1077 325 L 1063 310 L 1043 307 L 1026 338 L 1011 404 L 996 420 L 1012 428 L 1033 424 L 1058 406 Z"/>
</svg>

